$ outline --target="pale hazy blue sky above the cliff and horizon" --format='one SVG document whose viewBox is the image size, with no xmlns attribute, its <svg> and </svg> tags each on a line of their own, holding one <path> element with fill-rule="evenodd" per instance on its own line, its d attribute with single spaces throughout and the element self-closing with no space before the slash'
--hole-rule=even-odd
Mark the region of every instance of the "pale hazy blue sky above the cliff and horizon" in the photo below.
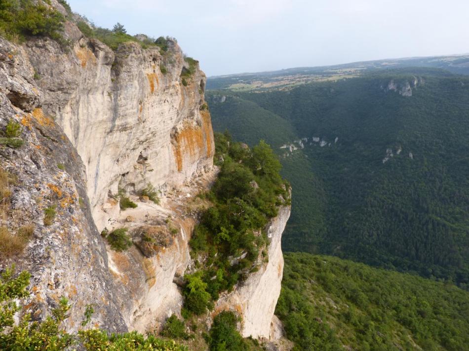
<svg viewBox="0 0 469 351">
<path fill-rule="evenodd" d="M 101 27 L 170 35 L 207 76 L 469 52 L 469 0 L 69 0 Z"/>
</svg>

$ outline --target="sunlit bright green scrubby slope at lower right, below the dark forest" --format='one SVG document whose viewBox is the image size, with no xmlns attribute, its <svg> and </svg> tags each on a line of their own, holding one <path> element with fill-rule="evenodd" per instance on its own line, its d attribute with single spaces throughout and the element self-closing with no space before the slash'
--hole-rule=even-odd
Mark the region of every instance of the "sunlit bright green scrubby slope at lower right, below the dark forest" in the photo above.
<svg viewBox="0 0 469 351">
<path fill-rule="evenodd" d="M 275 314 L 294 350 L 468 350 L 467 291 L 330 256 L 284 257 Z"/>
</svg>

